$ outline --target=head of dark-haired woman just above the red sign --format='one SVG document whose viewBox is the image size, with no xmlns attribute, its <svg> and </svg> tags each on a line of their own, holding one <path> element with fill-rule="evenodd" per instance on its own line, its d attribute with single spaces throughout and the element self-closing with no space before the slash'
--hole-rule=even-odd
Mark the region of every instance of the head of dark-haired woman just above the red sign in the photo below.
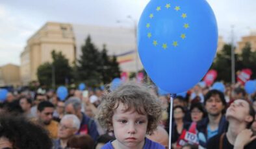
<svg viewBox="0 0 256 149">
<path fill-rule="evenodd" d="M 207 113 L 205 111 L 205 108 L 203 107 L 203 104 L 198 102 L 190 106 L 190 115 L 191 115 L 192 122 L 198 122 L 199 120 L 206 117 Z"/>
</svg>

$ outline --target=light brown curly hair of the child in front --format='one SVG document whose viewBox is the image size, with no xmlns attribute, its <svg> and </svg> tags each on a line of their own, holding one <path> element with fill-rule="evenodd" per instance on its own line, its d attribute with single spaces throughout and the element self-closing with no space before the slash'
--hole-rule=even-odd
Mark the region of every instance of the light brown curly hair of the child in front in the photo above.
<svg viewBox="0 0 256 149">
<path fill-rule="evenodd" d="M 108 130 L 112 128 L 112 117 L 120 103 L 127 107 L 126 111 L 135 109 L 139 114 L 147 115 L 147 134 L 150 135 L 157 128 L 162 115 L 160 101 L 146 86 L 135 82 L 122 84 L 103 96 L 97 115 L 101 126 Z"/>
</svg>

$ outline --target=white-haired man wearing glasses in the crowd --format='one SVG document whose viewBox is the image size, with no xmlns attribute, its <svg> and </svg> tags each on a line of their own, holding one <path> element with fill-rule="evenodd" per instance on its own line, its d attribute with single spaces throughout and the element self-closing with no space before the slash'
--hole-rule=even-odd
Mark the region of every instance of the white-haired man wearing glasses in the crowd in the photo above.
<svg viewBox="0 0 256 149">
<path fill-rule="evenodd" d="M 80 120 L 76 115 L 64 115 L 58 125 L 58 139 L 53 141 L 53 149 L 68 148 L 68 140 L 78 132 L 79 128 Z"/>
</svg>

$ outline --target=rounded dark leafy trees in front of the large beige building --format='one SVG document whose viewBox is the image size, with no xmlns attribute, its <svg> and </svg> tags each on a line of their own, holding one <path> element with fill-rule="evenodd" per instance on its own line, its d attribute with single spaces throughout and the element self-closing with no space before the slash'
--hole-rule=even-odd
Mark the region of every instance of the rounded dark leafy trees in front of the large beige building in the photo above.
<svg viewBox="0 0 256 149">
<path fill-rule="evenodd" d="M 53 58 L 52 63 L 46 62 L 38 67 L 38 80 L 40 84 L 50 87 L 53 82 L 52 75 L 54 75 L 55 83 L 57 85 L 63 85 L 66 83 L 66 80 L 72 78 L 72 69 L 68 63 L 68 59 L 65 58 L 62 52 L 55 52 L 54 50 L 51 52 L 51 57 Z"/>
</svg>

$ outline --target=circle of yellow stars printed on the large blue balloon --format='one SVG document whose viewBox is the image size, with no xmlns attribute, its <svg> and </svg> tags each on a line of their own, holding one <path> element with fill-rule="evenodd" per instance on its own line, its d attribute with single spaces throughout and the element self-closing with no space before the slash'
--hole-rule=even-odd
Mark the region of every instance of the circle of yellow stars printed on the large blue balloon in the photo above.
<svg viewBox="0 0 256 149">
<path fill-rule="evenodd" d="M 164 6 L 164 8 L 166 8 L 166 9 L 171 9 L 171 4 L 170 3 L 167 3 L 165 6 Z M 164 9 L 163 8 L 163 9 Z M 160 10 L 162 10 L 161 9 L 161 6 L 157 6 L 157 8 L 155 8 L 155 10 L 156 10 L 156 13 L 157 12 L 160 12 Z M 174 6 L 173 7 L 173 10 L 175 10 L 176 12 L 179 12 L 179 11 L 181 11 L 181 6 Z M 186 13 L 182 13 L 181 14 L 181 17 L 183 18 L 183 19 L 186 19 L 186 17 L 188 17 L 187 16 L 187 14 Z M 149 19 L 153 19 L 154 18 L 154 14 L 153 13 L 151 13 L 151 14 L 149 14 Z M 150 29 L 150 27 L 151 27 L 151 25 L 150 25 L 150 23 L 146 23 L 146 28 L 147 29 Z M 184 29 L 188 29 L 190 26 L 189 26 L 189 24 L 188 23 L 184 23 L 183 24 L 183 28 Z M 147 38 L 152 38 L 152 34 L 151 34 L 151 32 L 147 32 Z M 180 36 L 180 38 L 182 39 L 182 40 L 185 40 L 186 39 L 186 34 L 185 33 L 181 33 L 181 36 Z M 158 43 L 158 41 L 157 40 L 153 40 L 153 45 L 155 46 L 155 47 L 157 47 L 157 45 L 161 45 L 161 47 L 162 47 L 162 49 L 164 49 L 164 50 L 166 50 L 166 49 L 168 49 L 168 43 Z M 172 46 L 172 47 L 177 47 L 177 46 L 179 46 L 179 43 L 178 43 L 178 41 L 172 41 L 172 44 L 170 45 L 170 46 Z"/>
</svg>

